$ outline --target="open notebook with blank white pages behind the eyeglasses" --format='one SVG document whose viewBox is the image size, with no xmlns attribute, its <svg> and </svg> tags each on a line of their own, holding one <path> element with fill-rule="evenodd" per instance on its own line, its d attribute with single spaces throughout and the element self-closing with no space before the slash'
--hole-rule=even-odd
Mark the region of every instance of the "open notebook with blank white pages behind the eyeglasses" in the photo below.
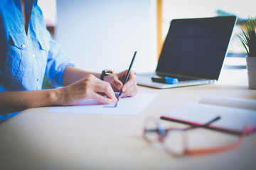
<svg viewBox="0 0 256 170">
<path fill-rule="evenodd" d="M 207 128 L 240 134 L 245 125 L 248 134 L 256 130 L 256 100 L 225 96 L 206 96 L 198 103 L 185 103 L 161 115 L 161 119 L 189 125 L 203 125 L 213 118 L 220 120 Z"/>
</svg>

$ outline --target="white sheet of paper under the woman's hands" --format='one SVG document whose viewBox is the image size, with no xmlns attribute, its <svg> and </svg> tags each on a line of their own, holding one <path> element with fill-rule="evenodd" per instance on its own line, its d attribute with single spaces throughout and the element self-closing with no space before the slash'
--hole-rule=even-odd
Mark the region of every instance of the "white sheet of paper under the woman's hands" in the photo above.
<svg viewBox="0 0 256 170">
<path fill-rule="evenodd" d="M 116 108 L 105 108 L 103 103 L 95 100 L 85 100 L 75 106 L 56 106 L 47 112 L 83 113 L 104 115 L 138 115 L 153 101 L 157 94 L 137 94 L 132 98 L 121 98 Z"/>
</svg>

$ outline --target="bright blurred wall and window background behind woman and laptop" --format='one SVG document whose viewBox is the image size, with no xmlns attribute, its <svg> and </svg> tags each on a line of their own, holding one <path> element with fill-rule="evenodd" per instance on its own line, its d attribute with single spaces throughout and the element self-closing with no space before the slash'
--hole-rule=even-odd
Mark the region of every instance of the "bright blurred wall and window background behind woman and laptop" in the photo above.
<svg viewBox="0 0 256 170">
<path fill-rule="evenodd" d="M 133 69 L 149 72 L 174 18 L 238 16 L 224 68 L 245 69 L 245 50 L 235 36 L 256 16 L 255 0 L 38 0 L 53 38 L 76 66 L 92 72 L 122 71 L 138 51 Z"/>
</svg>

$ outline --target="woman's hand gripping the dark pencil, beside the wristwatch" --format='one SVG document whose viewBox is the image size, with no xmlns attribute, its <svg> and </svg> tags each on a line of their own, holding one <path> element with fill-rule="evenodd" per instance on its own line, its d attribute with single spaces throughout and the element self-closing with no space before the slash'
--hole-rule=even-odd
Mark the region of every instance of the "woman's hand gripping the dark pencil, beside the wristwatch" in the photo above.
<svg viewBox="0 0 256 170">
<path fill-rule="evenodd" d="M 118 74 L 110 74 L 105 77 L 105 81 L 109 82 L 116 92 L 119 92 L 122 89 L 123 97 L 132 97 L 138 94 L 137 76 L 134 74 L 134 71 L 131 71 L 128 81 L 124 84 L 127 72 L 128 70 L 124 70 Z"/>
</svg>

